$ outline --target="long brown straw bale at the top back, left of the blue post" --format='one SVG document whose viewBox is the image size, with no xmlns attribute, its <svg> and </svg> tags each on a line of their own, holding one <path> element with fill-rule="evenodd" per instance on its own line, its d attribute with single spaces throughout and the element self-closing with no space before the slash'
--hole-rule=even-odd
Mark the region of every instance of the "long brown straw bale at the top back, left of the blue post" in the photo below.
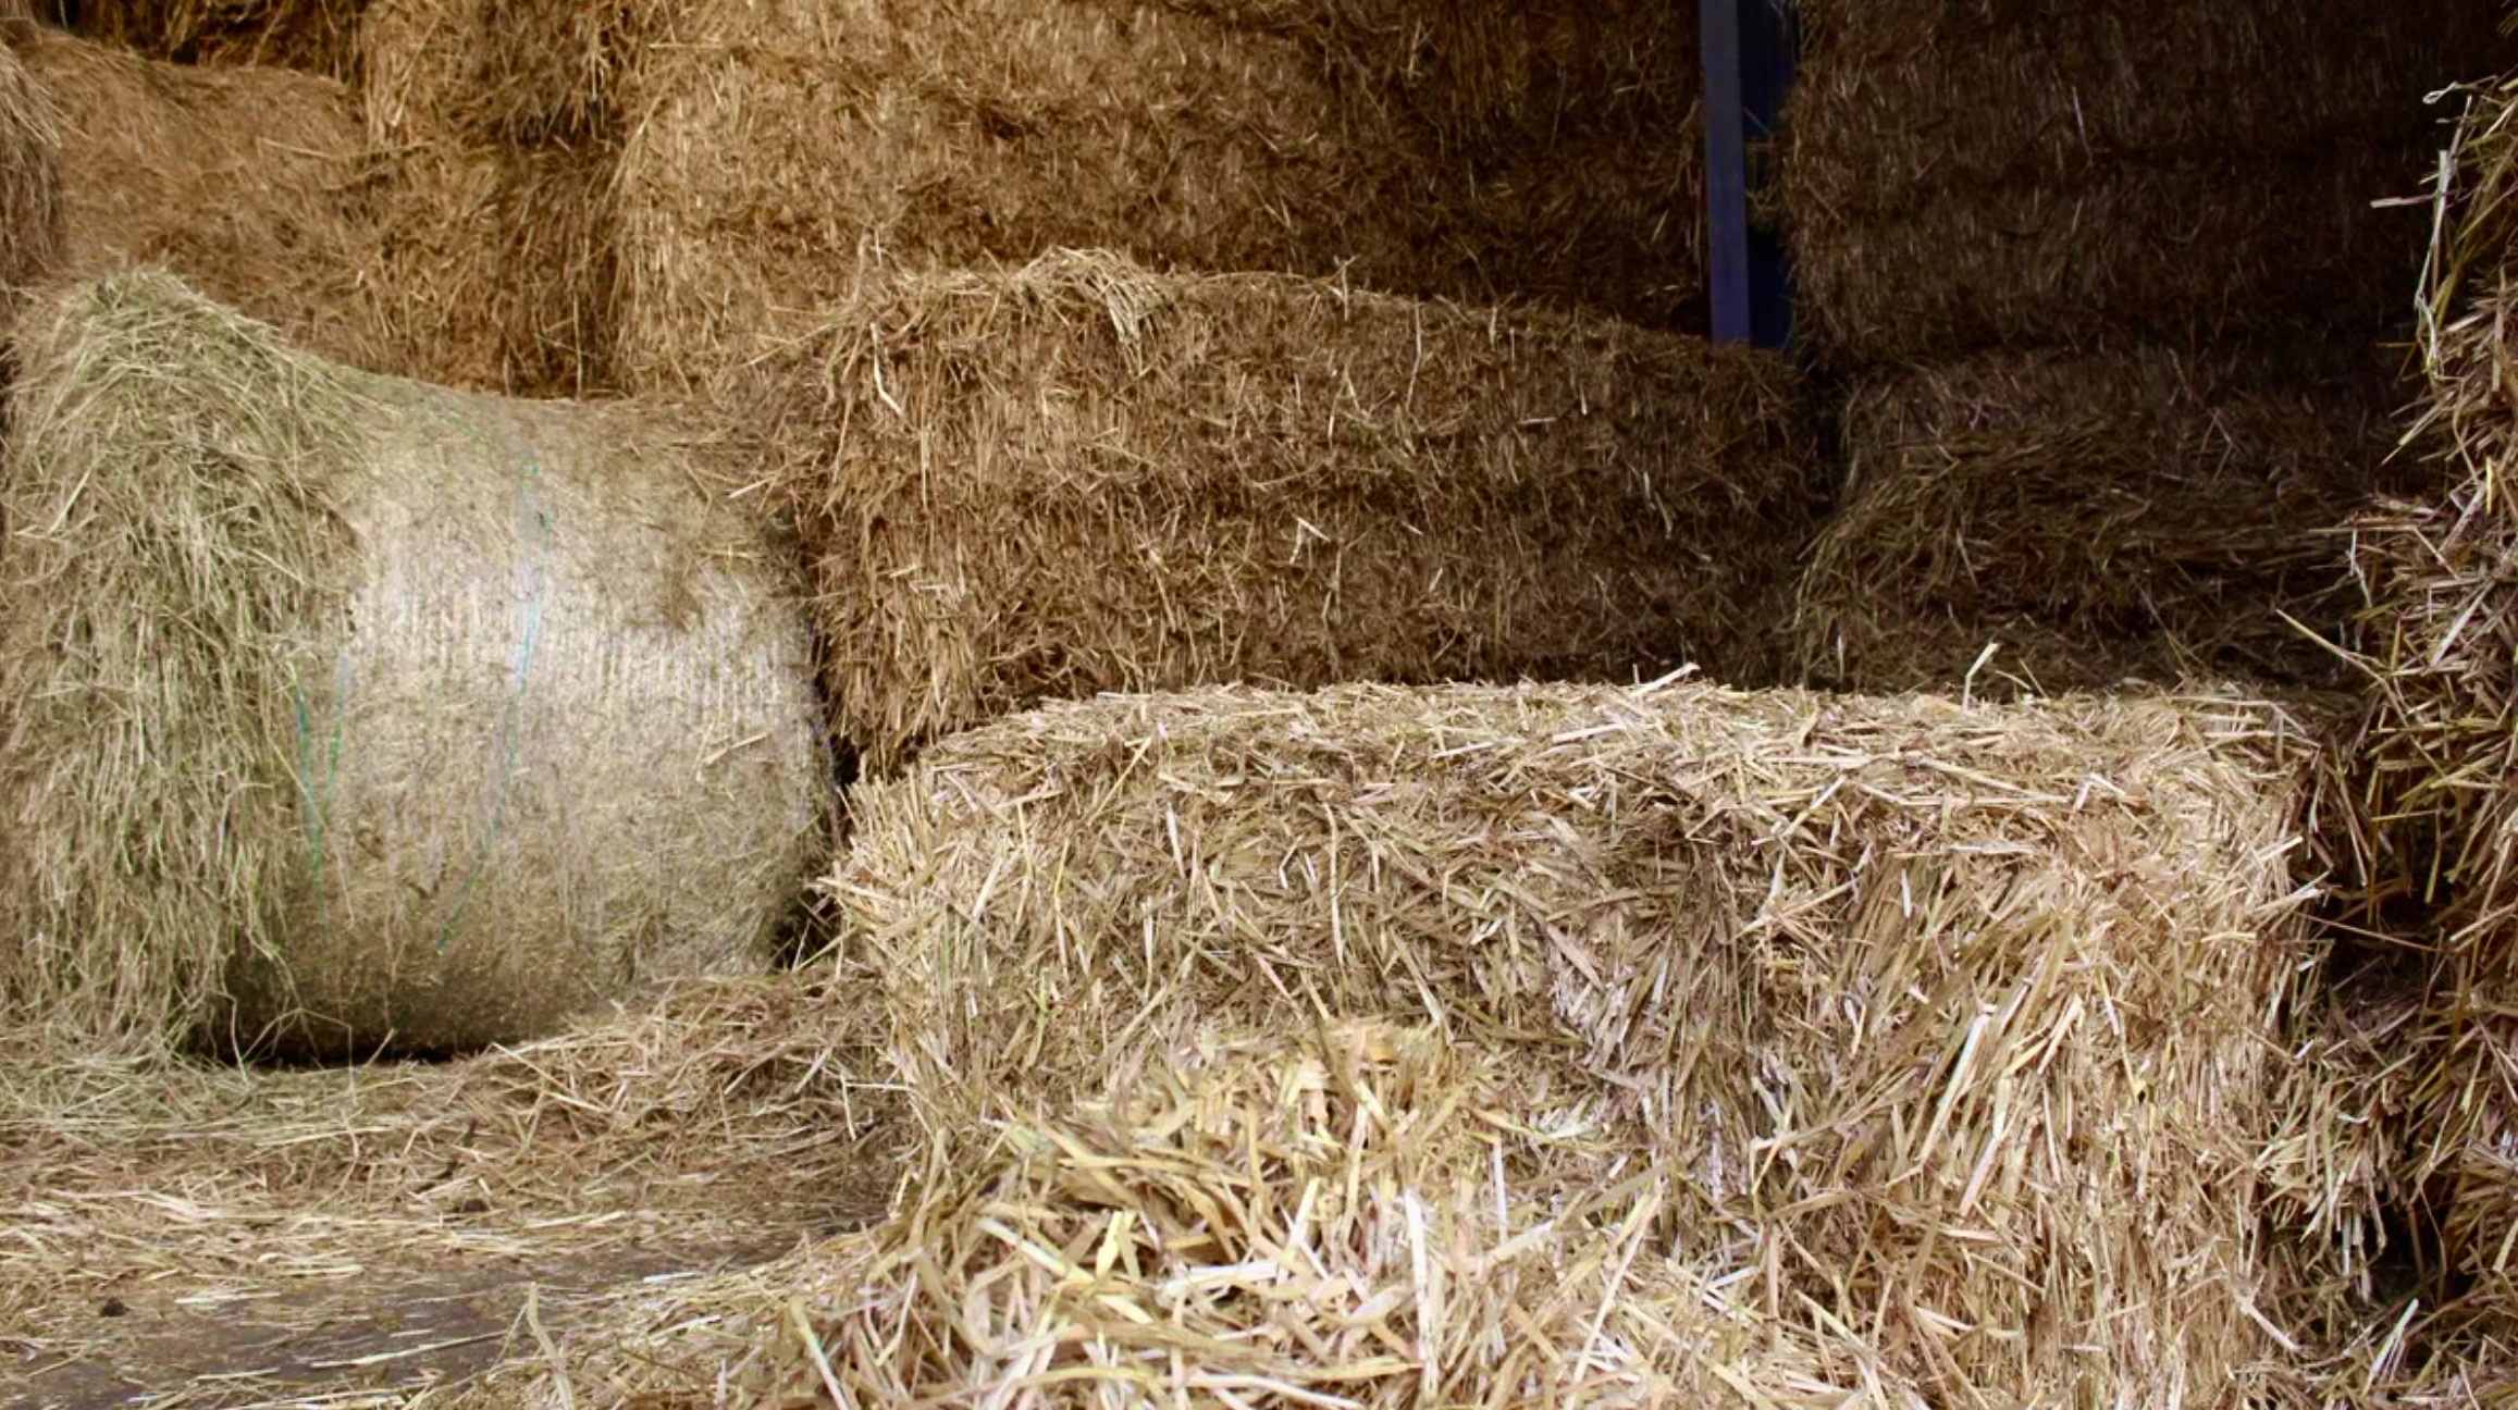
<svg viewBox="0 0 2518 1410">
<path fill-rule="evenodd" d="M 1121 247 L 1692 322 L 1692 18 L 1531 5 L 1443 38 L 1418 13 L 1448 8 L 1387 10 L 1397 23 L 1292 33 L 1264 23 L 1272 5 L 682 8 L 627 81 L 627 375 L 745 360 L 781 310 L 846 297 L 869 249 L 962 264 Z M 1418 43 L 1513 81 L 1408 93 Z"/>
</svg>

